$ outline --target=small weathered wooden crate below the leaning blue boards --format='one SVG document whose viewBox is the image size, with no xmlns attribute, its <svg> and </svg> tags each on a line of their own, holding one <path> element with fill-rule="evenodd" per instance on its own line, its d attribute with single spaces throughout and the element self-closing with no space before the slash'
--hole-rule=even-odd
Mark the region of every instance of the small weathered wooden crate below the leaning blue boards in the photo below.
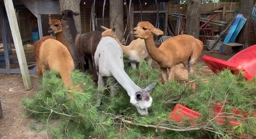
<svg viewBox="0 0 256 139">
<path fill-rule="evenodd" d="M 238 43 L 223 44 L 222 47 L 222 53 L 228 56 L 234 53 L 238 53 L 244 49 L 244 45 Z"/>
</svg>

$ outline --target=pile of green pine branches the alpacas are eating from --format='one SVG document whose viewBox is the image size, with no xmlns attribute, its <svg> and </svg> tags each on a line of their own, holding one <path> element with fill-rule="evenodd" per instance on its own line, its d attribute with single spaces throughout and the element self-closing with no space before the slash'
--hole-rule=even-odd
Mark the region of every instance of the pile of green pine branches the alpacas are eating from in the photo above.
<svg viewBox="0 0 256 139">
<path fill-rule="evenodd" d="M 32 125 L 30 128 L 35 131 L 46 130 L 56 139 L 231 139 L 240 133 L 255 135 L 256 118 L 253 112 L 256 109 L 256 79 L 248 82 L 242 74 L 236 76 L 228 70 L 208 78 L 199 72 L 200 77 L 190 77 L 190 81 L 197 84 L 197 89 L 193 92 L 184 82 L 174 81 L 162 85 L 159 71 L 148 69 L 146 62 L 140 63 L 137 70 L 132 70 L 126 60 L 124 65 L 126 73 L 141 88 L 150 82 L 157 82 L 150 91 L 153 103 L 148 116 L 137 113 L 129 102 L 127 92 L 114 79 L 107 80 L 107 85 L 110 82 L 116 85 L 114 88 L 104 88 L 101 107 L 96 108 L 97 87 L 90 75 L 80 71 L 74 71 L 70 75 L 75 84 L 85 83 L 81 93 L 65 89 L 62 80 L 57 78 L 58 73 L 49 72 L 41 80 L 40 91 L 33 98 L 25 97 L 22 100 L 26 115 L 43 124 L 43 127 Z M 111 96 L 110 89 L 115 89 L 117 94 Z M 176 123 L 168 118 L 175 106 L 174 102 L 201 113 L 200 118 L 193 121 L 195 127 L 191 127 L 190 120 L 184 119 Z M 224 111 L 230 115 L 233 108 L 249 113 L 246 120 L 243 116 L 236 116 L 235 119 L 244 121 L 238 126 L 218 124 L 211 113 L 213 103 L 226 105 Z M 128 124 L 118 118 L 128 123 L 161 126 L 171 130 Z M 189 128 L 194 130 L 186 131 Z M 227 132 L 228 129 L 232 132 Z"/>
</svg>

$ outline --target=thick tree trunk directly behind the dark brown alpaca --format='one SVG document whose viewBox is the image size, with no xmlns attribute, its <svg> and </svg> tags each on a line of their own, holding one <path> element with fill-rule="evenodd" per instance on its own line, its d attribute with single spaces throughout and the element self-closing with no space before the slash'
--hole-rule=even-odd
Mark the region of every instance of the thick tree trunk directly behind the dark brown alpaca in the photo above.
<svg viewBox="0 0 256 139">
<path fill-rule="evenodd" d="M 62 10 L 72 10 L 74 12 L 79 13 L 79 15 L 74 16 L 74 20 L 76 23 L 76 28 L 77 32 L 81 34 L 81 19 L 80 19 L 80 6 L 79 6 L 79 1 L 78 0 L 60 0 L 60 11 Z M 62 20 L 61 22 L 66 23 L 65 20 Z M 75 69 L 79 69 L 79 59 L 78 59 L 78 54 L 75 49 L 75 44 L 74 40 L 71 37 L 69 28 L 62 28 L 62 33 L 63 33 L 63 40 L 66 40 L 66 42 L 69 45 L 70 48 L 70 54 L 74 60 L 74 65 Z"/>
</svg>

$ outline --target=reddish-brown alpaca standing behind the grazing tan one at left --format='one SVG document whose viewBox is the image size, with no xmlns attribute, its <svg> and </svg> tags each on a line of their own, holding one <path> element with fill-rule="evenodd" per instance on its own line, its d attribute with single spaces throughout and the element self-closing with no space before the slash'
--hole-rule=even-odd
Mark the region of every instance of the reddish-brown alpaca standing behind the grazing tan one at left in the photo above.
<svg viewBox="0 0 256 139">
<path fill-rule="evenodd" d="M 42 45 L 42 43 L 47 40 L 47 39 L 55 39 L 55 40 L 58 40 L 60 41 L 62 44 L 65 45 L 65 47 L 69 50 L 69 46 L 68 44 L 63 40 L 63 37 L 62 37 L 62 26 L 63 27 L 68 27 L 66 24 L 64 23 L 61 23 L 60 20 L 57 20 L 57 19 L 53 19 L 49 22 L 50 24 L 50 28 L 48 29 L 48 32 L 49 33 L 56 33 L 56 37 L 53 37 L 53 36 L 44 36 L 42 37 L 40 40 L 36 41 L 34 43 L 34 53 L 35 53 L 35 57 L 36 57 L 36 62 L 39 63 L 39 49 Z M 40 66 L 40 65 L 39 65 Z M 38 65 L 37 65 L 38 67 Z M 40 70 L 42 68 L 38 67 L 37 68 L 37 74 L 39 76 L 42 76 L 42 71 Z"/>
</svg>

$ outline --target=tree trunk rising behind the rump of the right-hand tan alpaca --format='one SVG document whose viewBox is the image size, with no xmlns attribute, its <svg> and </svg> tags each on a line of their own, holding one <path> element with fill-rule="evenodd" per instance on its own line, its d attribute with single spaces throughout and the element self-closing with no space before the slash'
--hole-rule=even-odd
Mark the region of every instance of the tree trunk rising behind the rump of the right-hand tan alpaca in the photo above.
<svg viewBox="0 0 256 139">
<path fill-rule="evenodd" d="M 186 13 L 186 34 L 199 38 L 202 0 L 188 0 Z"/>
</svg>

